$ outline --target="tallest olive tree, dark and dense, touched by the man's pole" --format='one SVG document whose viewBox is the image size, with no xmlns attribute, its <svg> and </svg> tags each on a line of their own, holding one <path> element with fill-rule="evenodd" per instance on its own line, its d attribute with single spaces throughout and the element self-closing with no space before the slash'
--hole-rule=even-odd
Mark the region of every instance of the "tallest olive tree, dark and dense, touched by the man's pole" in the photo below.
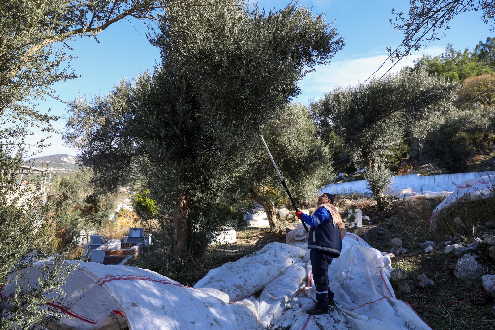
<svg viewBox="0 0 495 330">
<path fill-rule="evenodd" d="M 152 39 L 161 64 L 107 96 L 71 104 L 67 139 L 112 180 L 139 166 L 173 228 L 176 260 L 200 256 L 211 210 L 235 204 L 267 122 L 299 93 L 297 82 L 343 46 L 322 15 L 291 3 L 269 12 L 229 5 L 175 8 Z M 117 178 L 115 180 L 115 178 Z"/>
</svg>

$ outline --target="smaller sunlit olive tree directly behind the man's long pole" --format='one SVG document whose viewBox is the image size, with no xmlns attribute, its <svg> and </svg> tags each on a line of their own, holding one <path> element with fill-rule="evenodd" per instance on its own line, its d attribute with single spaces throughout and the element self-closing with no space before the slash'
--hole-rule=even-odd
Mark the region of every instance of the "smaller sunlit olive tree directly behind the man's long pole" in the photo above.
<svg viewBox="0 0 495 330">
<path fill-rule="evenodd" d="M 300 203 L 314 201 L 317 191 L 334 175 L 330 148 L 318 138 L 316 125 L 309 110 L 292 104 L 280 110 L 263 129 L 264 139 L 287 182 L 293 198 Z M 250 196 L 265 209 L 270 227 L 280 228 L 275 207 L 291 206 L 280 179 L 264 147 L 249 164 L 247 183 Z"/>
</svg>

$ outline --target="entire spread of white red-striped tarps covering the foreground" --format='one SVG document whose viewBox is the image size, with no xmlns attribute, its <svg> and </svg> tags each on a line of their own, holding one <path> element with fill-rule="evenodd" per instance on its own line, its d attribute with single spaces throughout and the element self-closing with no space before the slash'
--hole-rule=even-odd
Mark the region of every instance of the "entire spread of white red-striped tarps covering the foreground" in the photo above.
<svg viewBox="0 0 495 330">
<path fill-rule="evenodd" d="M 389 282 L 391 254 L 370 247 L 352 233 L 346 234 L 341 257 L 329 268 L 339 309 L 307 315 L 305 311 L 315 303 L 309 250 L 293 245 L 304 246 L 306 239 L 300 224 L 287 235 L 288 244 L 269 243 L 211 270 L 195 288 L 148 270 L 82 263 L 63 286 L 64 303 L 73 303 L 66 312 L 74 319 L 52 328 L 430 329 L 408 304 L 395 298 Z M 30 276 L 36 275 L 31 270 Z M 7 285 L 1 293 L 9 290 Z"/>
</svg>

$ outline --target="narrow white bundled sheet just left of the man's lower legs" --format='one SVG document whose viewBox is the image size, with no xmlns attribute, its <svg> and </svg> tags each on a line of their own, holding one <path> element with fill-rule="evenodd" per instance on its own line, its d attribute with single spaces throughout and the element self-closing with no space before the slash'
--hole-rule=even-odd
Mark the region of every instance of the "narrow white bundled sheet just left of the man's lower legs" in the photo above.
<svg viewBox="0 0 495 330">
<path fill-rule="evenodd" d="M 304 266 L 303 263 L 289 266 L 280 276 L 265 286 L 258 299 L 259 330 L 269 327 L 286 308 L 286 303 L 296 295 L 297 290 L 304 286 L 306 277 Z"/>
</svg>

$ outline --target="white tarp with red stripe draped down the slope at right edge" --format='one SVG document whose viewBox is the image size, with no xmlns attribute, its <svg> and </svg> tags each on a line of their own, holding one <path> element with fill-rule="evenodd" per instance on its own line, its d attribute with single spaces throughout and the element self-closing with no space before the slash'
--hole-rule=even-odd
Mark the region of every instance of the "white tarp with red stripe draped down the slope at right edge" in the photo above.
<svg viewBox="0 0 495 330">
<path fill-rule="evenodd" d="M 437 218 L 440 213 L 448 212 L 456 204 L 485 199 L 491 196 L 495 196 L 495 174 L 478 176 L 471 180 L 461 182 L 461 184 L 455 187 L 453 193 L 448 195 L 447 198 L 433 210 L 430 218 L 430 230 L 435 230 L 437 228 Z"/>
</svg>

